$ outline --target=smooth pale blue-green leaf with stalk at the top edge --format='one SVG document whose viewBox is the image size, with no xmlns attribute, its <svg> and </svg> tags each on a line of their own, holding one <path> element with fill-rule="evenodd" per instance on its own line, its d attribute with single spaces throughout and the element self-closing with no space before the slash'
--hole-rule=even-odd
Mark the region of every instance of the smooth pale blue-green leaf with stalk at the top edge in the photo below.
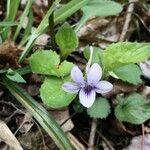
<svg viewBox="0 0 150 150">
<path fill-rule="evenodd" d="M 89 0 L 87 5 L 82 8 L 83 16 L 80 19 L 76 32 L 81 26 L 93 16 L 112 16 L 122 11 L 122 6 L 119 3 L 108 0 Z"/>
</svg>

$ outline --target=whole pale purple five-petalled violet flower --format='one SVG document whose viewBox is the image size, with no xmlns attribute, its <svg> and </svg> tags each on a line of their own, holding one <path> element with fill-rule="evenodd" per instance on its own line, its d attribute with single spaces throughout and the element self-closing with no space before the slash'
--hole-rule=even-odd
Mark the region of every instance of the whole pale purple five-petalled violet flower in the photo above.
<svg viewBox="0 0 150 150">
<path fill-rule="evenodd" d="M 113 85 L 108 81 L 101 80 L 102 69 L 99 64 L 93 64 L 87 72 L 87 78 L 84 80 L 83 73 L 75 66 L 71 71 L 71 78 L 74 82 L 64 83 L 62 88 L 69 93 L 79 92 L 80 103 L 84 107 L 91 107 L 96 98 L 97 93 L 107 93 L 112 90 Z"/>
</svg>

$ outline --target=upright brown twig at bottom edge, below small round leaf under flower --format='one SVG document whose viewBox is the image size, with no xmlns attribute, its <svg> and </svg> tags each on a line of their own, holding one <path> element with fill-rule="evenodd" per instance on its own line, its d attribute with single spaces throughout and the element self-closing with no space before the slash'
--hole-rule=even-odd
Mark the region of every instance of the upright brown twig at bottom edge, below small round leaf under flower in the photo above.
<svg viewBox="0 0 150 150">
<path fill-rule="evenodd" d="M 89 142 L 88 142 L 88 150 L 94 150 L 94 141 L 95 141 L 96 128 L 97 128 L 97 119 L 93 119 L 92 125 L 91 125 L 91 132 L 90 132 Z"/>
</svg>

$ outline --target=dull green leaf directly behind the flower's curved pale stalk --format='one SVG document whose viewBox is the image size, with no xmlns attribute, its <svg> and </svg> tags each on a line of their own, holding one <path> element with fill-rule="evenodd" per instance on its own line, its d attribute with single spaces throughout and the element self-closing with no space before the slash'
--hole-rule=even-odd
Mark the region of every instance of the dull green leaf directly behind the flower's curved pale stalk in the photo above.
<svg viewBox="0 0 150 150">
<path fill-rule="evenodd" d="M 93 57 L 92 57 L 92 63 L 101 63 L 101 57 L 102 57 L 103 50 L 99 47 L 93 47 Z M 89 60 L 90 58 L 90 48 L 87 47 L 83 51 L 84 57 Z"/>
</svg>

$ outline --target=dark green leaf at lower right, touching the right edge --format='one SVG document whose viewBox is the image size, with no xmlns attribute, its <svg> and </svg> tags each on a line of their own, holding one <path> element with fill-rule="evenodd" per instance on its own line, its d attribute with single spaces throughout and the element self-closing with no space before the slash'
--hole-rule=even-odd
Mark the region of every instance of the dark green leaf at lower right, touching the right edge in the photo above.
<svg viewBox="0 0 150 150">
<path fill-rule="evenodd" d="M 115 115 L 120 121 L 142 124 L 150 119 L 150 103 L 140 94 L 131 94 L 119 101 Z"/>
</svg>

